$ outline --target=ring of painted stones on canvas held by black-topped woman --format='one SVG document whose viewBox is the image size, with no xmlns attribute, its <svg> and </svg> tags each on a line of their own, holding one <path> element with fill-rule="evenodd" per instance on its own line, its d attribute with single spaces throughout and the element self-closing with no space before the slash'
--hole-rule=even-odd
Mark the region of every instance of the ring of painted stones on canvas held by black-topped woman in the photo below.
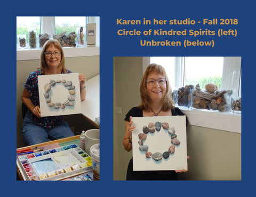
<svg viewBox="0 0 256 197">
<path fill-rule="evenodd" d="M 168 132 L 171 136 L 171 146 L 166 149 L 165 152 L 160 153 L 160 152 L 155 152 L 152 153 L 150 151 L 148 151 L 149 147 L 148 145 L 145 144 L 146 140 L 147 140 L 147 135 L 148 133 L 155 133 L 155 131 L 160 132 L 161 127 L 163 128 L 163 130 L 165 132 Z M 175 152 L 175 146 L 180 145 L 180 141 L 177 139 L 177 134 L 175 134 L 175 127 L 169 127 L 169 123 L 166 122 L 156 122 L 156 123 L 152 123 L 150 122 L 148 124 L 148 126 L 143 126 L 142 127 L 142 132 L 143 133 L 139 133 L 139 150 L 142 152 L 145 152 L 145 156 L 147 158 L 153 158 L 155 161 L 160 161 L 162 160 L 162 158 L 167 159 L 169 158 L 170 155 L 172 155 Z"/>
</svg>

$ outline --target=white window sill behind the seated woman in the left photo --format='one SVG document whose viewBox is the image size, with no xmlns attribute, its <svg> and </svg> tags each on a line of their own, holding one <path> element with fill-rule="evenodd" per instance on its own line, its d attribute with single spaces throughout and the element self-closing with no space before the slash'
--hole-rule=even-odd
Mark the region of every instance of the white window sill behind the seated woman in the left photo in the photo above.
<svg viewBox="0 0 256 197">
<path fill-rule="evenodd" d="M 100 55 L 100 47 L 63 47 L 65 57 L 83 57 Z M 40 59 L 42 49 L 17 50 L 17 61 Z"/>
</svg>

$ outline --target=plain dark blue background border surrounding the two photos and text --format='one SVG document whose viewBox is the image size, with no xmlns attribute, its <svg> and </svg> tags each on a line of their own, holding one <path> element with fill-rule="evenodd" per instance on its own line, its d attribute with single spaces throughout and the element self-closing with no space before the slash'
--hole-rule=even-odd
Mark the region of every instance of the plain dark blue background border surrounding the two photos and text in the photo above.
<svg viewBox="0 0 256 197">
<path fill-rule="evenodd" d="M 73 5 L 71 3 L 74 3 Z M 250 1 L 94 1 L 2 2 L 1 98 L 3 194 L 43 195 L 198 195 L 239 196 L 255 187 L 253 98 L 255 95 L 255 11 Z M 71 6 L 70 6 L 71 5 Z M 73 7 L 72 7 L 73 6 Z M 99 182 L 18 182 L 16 180 L 16 16 L 100 16 L 101 180 Z M 116 19 L 236 18 L 238 36 L 214 39 L 210 47 L 141 47 L 140 37 L 118 37 Z M 131 28 L 131 27 L 130 27 Z M 170 27 L 171 28 L 171 27 Z M 195 29 L 199 28 L 195 25 Z M 219 25 L 207 27 L 219 29 Z M 226 27 L 228 28 L 228 27 Z M 139 27 L 136 27 L 139 29 Z M 174 29 L 174 28 L 173 28 Z M 182 27 L 181 27 L 182 29 Z M 190 38 L 190 37 L 189 37 Z M 189 39 L 188 38 L 188 39 Z M 199 38 L 199 37 L 198 37 Z M 179 39 L 172 37 L 172 39 Z M 126 182 L 113 181 L 114 56 L 241 56 L 242 181 Z M 249 81 L 251 83 L 249 83 Z M 249 88 L 250 87 L 250 88 Z M 7 139 L 7 140 L 6 140 Z M 7 183 L 9 187 L 5 187 Z M 6 191 L 6 192 L 4 192 Z M 36 194 L 35 194 L 36 193 Z"/>
</svg>

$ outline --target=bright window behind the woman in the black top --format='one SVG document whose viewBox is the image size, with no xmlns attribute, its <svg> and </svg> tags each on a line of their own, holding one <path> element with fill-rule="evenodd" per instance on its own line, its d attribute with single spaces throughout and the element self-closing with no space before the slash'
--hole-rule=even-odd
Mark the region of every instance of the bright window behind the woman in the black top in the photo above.
<svg viewBox="0 0 256 197">
<path fill-rule="evenodd" d="M 212 82 L 241 97 L 241 57 L 150 57 L 150 63 L 165 67 L 172 89 Z"/>
</svg>

